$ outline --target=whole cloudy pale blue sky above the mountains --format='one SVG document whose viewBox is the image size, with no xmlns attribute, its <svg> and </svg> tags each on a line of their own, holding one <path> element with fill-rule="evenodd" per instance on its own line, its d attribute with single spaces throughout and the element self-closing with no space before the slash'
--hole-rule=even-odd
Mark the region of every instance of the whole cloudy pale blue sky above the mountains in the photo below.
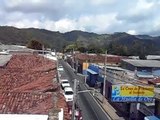
<svg viewBox="0 0 160 120">
<path fill-rule="evenodd" d="M 160 35 L 160 0 L 0 0 L 0 25 Z"/>
</svg>

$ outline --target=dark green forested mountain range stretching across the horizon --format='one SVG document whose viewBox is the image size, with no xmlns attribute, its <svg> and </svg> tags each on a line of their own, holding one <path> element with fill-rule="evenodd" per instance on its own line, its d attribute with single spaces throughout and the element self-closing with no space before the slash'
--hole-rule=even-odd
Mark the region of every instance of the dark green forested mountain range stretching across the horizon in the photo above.
<svg viewBox="0 0 160 120">
<path fill-rule="evenodd" d="M 125 32 L 96 34 L 78 30 L 60 33 L 45 29 L 0 26 L 2 44 L 26 45 L 31 40 L 40 41 L 57 51 L 74 45 L 79 50 L 83 48 L 91 52 L 104 52 L 107 49 L 109 53 L 118 55 L 160 54 L 160 36 L 130 35 Z"/>
</svg>

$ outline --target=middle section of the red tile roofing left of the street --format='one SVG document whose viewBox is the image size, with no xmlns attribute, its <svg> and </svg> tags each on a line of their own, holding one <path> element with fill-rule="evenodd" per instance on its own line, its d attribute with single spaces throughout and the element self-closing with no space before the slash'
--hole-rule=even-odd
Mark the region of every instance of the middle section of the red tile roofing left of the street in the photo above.
<svg viewBox="0 0 160 120">
<path fill-rule="evenodd" d="M 0 73 L 0 91 L 20 90 L 25 92 L 26 90 L 43 91 L 53 87 L 52 79 L 55 71 L 40 73 L 1 70 Z"/>
</svg>

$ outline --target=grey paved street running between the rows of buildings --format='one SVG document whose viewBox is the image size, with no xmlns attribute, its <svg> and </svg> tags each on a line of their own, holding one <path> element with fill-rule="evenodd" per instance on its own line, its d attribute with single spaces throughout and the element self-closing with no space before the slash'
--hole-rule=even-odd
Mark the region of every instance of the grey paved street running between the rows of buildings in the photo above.
<svg viewBox="0 0 160 120">
<path fill-rule="evenodd" d="M 65 77 L 70 80 L 71 86 L 73 86 L 73 80 L 76 78 L 79 81 L 82 81 L 83 78 L 76 75 L 73 70 L 68 66 L 64 61 L 60 61 L 60 64 L 63 65 L 65 70 Z M 83 82 L 80 82 L 80 90 L 86 90 Z M 78 103 L 80 109 L 82 110 L 82 116 L 84 120 L 109 120 L 107 114 L 101 109 L 97 104 L 96 100 L 90 94 L 90 92 L 78 94 Z"/>
</svg>

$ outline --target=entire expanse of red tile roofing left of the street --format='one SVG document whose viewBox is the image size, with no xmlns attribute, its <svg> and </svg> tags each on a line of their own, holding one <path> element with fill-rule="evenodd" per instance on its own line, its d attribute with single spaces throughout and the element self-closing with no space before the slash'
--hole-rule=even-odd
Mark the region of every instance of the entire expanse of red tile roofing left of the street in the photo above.
<svg viewBox="0 0 160 120">
<path fill-rule="evenodd" d="M 61 107 L 66 110 L 65 99 L 53 80 L 56 72 L 56 63 L 42 56 L 13 55 L 7 66 L 0 68 L 0 113 L 48 114 L 51 108 Z"/>
</svg>

